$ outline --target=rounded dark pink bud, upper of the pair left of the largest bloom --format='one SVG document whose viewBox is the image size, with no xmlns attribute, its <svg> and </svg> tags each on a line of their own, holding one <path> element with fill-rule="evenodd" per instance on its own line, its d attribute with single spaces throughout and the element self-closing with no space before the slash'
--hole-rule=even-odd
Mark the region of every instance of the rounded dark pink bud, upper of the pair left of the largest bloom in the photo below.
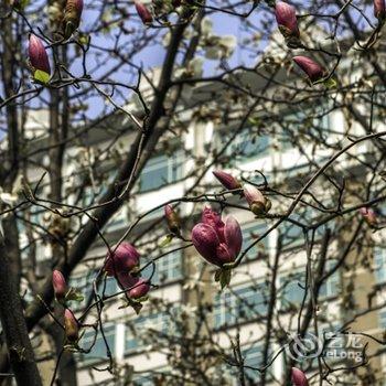
<svg viewBox="0 0 386 386">
<path fill-rule="evenodd" d="M 130 243 L 121 243 L 107 254 L 105 271 L 108 276 L 130 272 L 139 265 L 139 253 Z"/>
</svg>

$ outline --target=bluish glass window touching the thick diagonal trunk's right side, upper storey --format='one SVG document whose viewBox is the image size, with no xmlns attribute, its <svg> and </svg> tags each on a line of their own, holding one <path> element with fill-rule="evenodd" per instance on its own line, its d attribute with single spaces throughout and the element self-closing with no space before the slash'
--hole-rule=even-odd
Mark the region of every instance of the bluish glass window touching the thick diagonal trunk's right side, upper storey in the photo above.
<svg viewBox="0 0 386 386">
<path fill-rule="evenodd" d="M 151 158 L 139 179 L 140 192 L 148 192 L 180 180 L 182 165 L 183 157 L 180 151 L 172 156 L 162 154 Z"/>
</svg>

